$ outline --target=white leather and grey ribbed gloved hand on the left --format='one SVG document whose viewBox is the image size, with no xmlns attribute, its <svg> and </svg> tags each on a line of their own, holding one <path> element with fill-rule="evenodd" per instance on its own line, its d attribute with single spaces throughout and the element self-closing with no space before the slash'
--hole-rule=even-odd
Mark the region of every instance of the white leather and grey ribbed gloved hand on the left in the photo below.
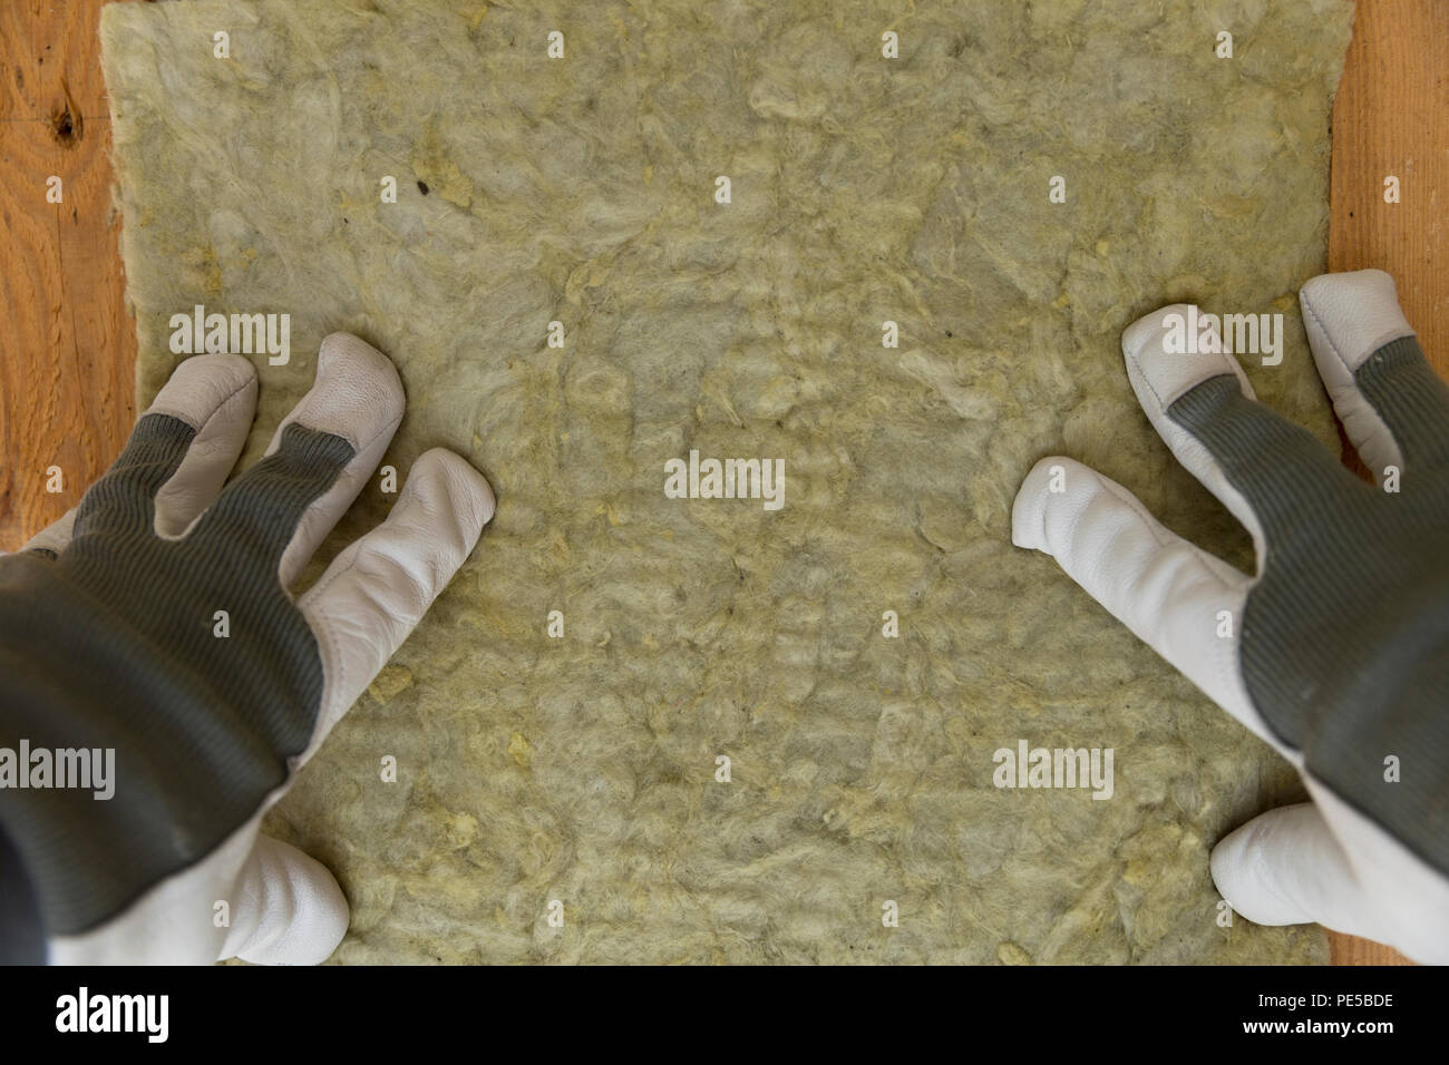
<svg viewBox="0 0 1449 1065">
<path fill-rule="evenodd" d="M 0 558 L 0 748 L 114 749 L 109 800 L 0 790 L 54 962 L 310 964 L 346 932 L 332 874 L 258 824 L 462 565 L 493 493 L 429 451 L 294 598 L 403 387 L 333 333 L 265 458 L 223 488 L 255 404 L 246 359 L 188 358 L 80 506 Z"/>
</svg>

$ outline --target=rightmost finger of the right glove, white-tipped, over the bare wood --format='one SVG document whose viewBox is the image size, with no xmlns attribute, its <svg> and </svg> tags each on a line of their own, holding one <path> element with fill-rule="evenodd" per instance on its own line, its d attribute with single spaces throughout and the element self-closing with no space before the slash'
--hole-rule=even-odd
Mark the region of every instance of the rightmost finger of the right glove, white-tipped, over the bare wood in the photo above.
<svg viewBox="0 0 1449 1065">
<path fill-rule="evenodd" d="M 1313 361 L 1333 410 L 1374 478 L 1449 462 L 1449 385 L 1424 361 L 1419 338 L 1382 270 L 1323 274 L 1298 293 Z"/>
</svg>

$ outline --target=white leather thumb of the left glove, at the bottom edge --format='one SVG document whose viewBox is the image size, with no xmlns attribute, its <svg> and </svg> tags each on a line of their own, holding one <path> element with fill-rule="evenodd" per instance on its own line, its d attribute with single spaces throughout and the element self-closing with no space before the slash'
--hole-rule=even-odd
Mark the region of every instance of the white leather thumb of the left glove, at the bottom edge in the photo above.
<svg viewBox="0 0 1449 1065">
<path fill-rule="evenodd" d="M 327 868 L 271 836 L 256 838 L 230 907 L 232 926 L 219 961 L 317 965 L 348 930 L 348 900 Z"/>
</svg>

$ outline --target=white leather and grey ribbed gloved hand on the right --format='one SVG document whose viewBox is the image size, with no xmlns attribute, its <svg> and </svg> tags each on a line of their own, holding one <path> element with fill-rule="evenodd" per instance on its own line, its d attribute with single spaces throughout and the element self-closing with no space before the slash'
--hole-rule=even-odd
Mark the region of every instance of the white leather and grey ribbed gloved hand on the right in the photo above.
<svg viewBox="0 0 1449 1065">
<path fill-rule="evenodd" d="M 1230 355 L 1168 354 L 1165 317 L 1187 307 L 1164 307 L 1123 333 L 1127 377 L 1177 459 L 1252 533 L 1256 574 L 1066 458 L 1027 475 L 1011 539 L 1053 555 L 1301 772 L 1313 803 L 1265 813 L 1213 851 L 1237 913 L 1449 962 L 1449 388 L 1382 271 L 1317 277 L 1301 303 L 1378 488 L 1259 404 Z"/>
</svg>

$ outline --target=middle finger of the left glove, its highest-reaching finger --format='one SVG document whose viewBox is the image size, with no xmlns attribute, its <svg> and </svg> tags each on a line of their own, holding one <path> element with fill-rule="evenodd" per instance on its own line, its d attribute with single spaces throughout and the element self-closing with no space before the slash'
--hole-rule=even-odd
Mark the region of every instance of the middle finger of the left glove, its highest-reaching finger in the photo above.
<svg viewBox="0 0 1449 1065">
<path fill-rule="evenodd" d="M 265 456 L 232 481 L 193 535 L 261 555 L 284 588 L 352 506 L 403 419 L 403 384 L 383 352 L 332 333 L 312 390 L 277 426 Z"/>
</svg>

